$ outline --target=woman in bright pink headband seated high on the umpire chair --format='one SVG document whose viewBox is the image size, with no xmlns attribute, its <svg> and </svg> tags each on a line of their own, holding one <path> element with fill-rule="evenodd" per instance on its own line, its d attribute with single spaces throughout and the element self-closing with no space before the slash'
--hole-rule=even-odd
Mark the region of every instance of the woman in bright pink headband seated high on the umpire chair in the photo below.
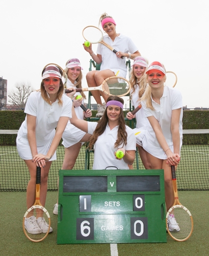
<svg viewBox="0 0 209 256">
<path fill-rule="evenodd" d="M 84 46 L 84 49 L 89 52 L 93 60 L 98 64 L 101 63 L 100 71 L 90 71 L 87 73 L 86 79 L 89 87 L 100 86 L 103 80 L 115 76 L 116 73 L 118 76 L 126 77 L 126 58 L 134 59 L 140 56 L 138 48 L 135 46 L 132 39 L 120 33 L 116 33 L 116 22 L 111 16 L 108 16 L 107 13 L 103 13 L 99 19 L 99 23 L 106 33 L 103 40 L 118 52 L 115 54 L 106 46 L 98 44 L 97 53 L 95 54 L 92 50 L 92 45 L 90 45 L 90 47 Z M 121 56 L 126 58 L 122 59 Z M 92 91 L 92 95 L 98 104 L 98 113 L 96 116 L 101 117 L 106 109 L 106 105 L 105 103 L 102 105 L 100 95 L 105 99 L 105 102 L 107 102 L 108 96 L 99 91 Z"/>
</svg>

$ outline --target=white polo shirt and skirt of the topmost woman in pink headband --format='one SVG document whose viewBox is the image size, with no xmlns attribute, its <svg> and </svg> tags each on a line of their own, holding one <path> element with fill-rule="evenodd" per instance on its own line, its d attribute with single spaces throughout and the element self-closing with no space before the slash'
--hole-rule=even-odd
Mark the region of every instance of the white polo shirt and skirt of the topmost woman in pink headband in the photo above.
<svg viewBox="0 0 209 256">
<path fill-rule="evenodd" d="M 127 36 L 119 35 L 116 36 L 115 40 L 113 41 L 108 35 L 103 37 L 103 41 L 107 42 L 109 46 L 112 46 L 116 51 L 121 51 L 124 53 L 135 53 L 138 51 L 138 48 L 135 46 L 132 39 Z M 126 58 L 121 59 L 116 56 L 109 48 L 102 44 L 98 44 L 97 47 L 97 54 L 102 56 L 102 62 L 100 70 L 110 69 L 114 73 L 120 71 L 118 76 L 126 77 L 127 67 L 125 65 Z"/>
</svg>

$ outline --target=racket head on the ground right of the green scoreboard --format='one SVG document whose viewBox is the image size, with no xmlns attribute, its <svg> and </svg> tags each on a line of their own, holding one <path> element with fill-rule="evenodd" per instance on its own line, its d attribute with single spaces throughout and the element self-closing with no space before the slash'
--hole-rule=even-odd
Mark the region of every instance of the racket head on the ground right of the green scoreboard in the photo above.
<svg viewBox="0 0 209 256">
<path fill-rule="evenodd" d="M 169 230 L 168 217 L 174 215 L 175 220 L 180 228 L 179 231 Z M 193 218 L 191 212 L 183 205 L 172 206 L 166 215 L 166 227 L 169 235 L 178 242 L 186 241 L 192 234 L 193 231 Z"/>
</svg>

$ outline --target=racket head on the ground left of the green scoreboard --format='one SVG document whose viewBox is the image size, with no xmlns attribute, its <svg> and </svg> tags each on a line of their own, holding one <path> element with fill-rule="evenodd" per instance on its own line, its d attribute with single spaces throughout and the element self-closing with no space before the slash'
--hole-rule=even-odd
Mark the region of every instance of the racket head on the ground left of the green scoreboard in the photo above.
<svg viewBox="0 0 209 256">
<path fill-rule="evenodd" d="M 26 220 L 27 224 L 25 224 L 25 219 L 30 217 L 34 218 L 33 216 L 36 218 L 36 220 L 34 219 L 35 221 L 37 221 L 39 217 L 44 218 L 45 222 L 48 225 L 48 229 L 47 230 L 45 229 L 43 232 L 41 229 L 33 228 L 34 220 L 33 221 Z M 22 227 L 23 227 L 25 236 L 32 242 L 41 242 L 42 240 L 44 240 L 48 235 L 50 226 L 51 226 L 51 219 L 50 219 L 49 213 L 42 205 L 33 205 L 31 206 L 31 208 L 29 208 L 25 212 L 23 221 L 22 221 Z M 32 231 L 33 233 L 28 231 L 29 228 L 33 230 Z"/>
</svg>

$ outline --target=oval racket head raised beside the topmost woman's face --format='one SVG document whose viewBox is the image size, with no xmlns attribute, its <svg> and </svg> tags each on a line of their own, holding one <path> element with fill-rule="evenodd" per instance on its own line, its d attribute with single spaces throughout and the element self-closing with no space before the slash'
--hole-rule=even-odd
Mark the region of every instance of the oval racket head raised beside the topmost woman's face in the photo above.
<svg viewBox="0 0 209 256">
<path fill-rule="evenodd" d="M 83 29 L 82 35 L 86 41 L 91 44 L 98 44 L 103 39 L 103 32 L 95 26 L 87 26 Z"/>
</svg>

